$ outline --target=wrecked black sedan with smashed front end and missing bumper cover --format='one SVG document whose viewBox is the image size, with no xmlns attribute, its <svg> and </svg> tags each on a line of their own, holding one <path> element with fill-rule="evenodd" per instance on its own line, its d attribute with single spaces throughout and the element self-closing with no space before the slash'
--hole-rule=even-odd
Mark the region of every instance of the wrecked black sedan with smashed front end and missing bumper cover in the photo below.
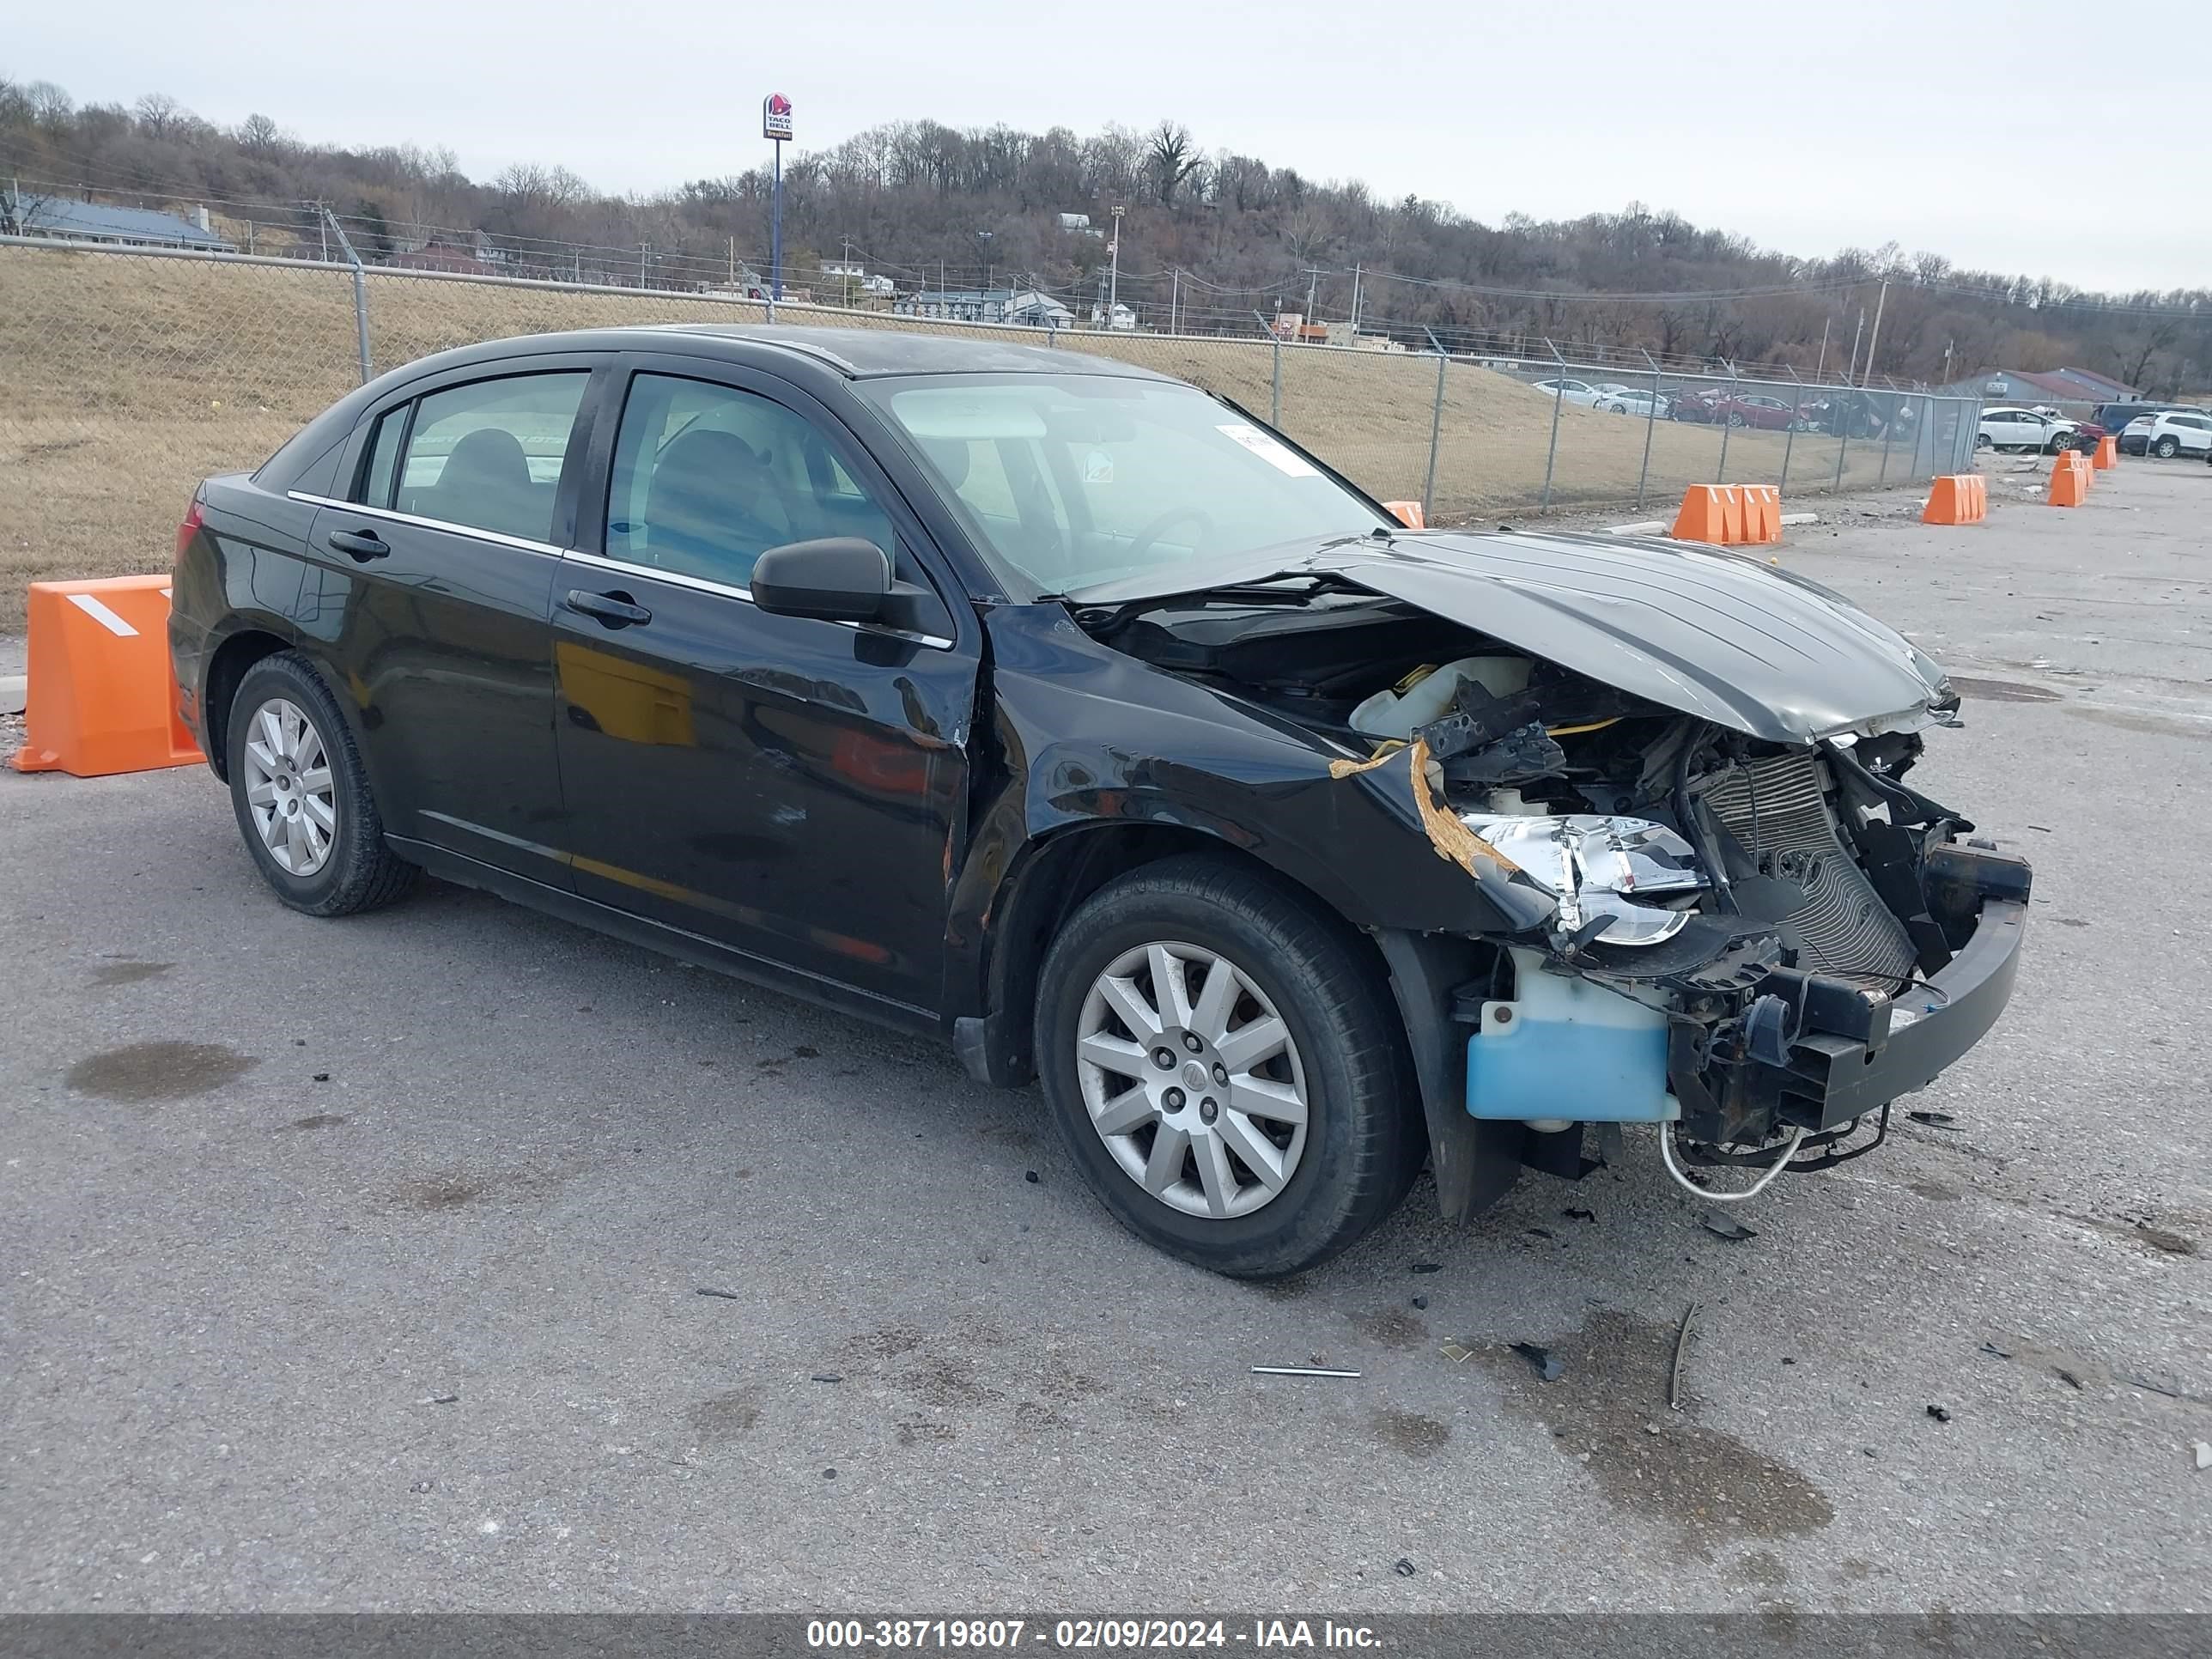
<svg viewBox="0 0 2212 1659">
<path fill-rule="evenodd" d="M 1577 1177 L 1590 1124 L 1646 1121 L 1686 1186 L 1820 1168 L 2017 967 L 2028 867 L 1907 783 L 1958 695 L 1847 599 L 1688 542 L 1407 531 L 1097 356 L 462 347 L 206 480 L 173 591 L 184 719 L 283 905 L 427 869 L 938 1033 L 1228 1274 L 1325 1261 L 1422 1164 L 1449 1217 Z"/>
</svg>

